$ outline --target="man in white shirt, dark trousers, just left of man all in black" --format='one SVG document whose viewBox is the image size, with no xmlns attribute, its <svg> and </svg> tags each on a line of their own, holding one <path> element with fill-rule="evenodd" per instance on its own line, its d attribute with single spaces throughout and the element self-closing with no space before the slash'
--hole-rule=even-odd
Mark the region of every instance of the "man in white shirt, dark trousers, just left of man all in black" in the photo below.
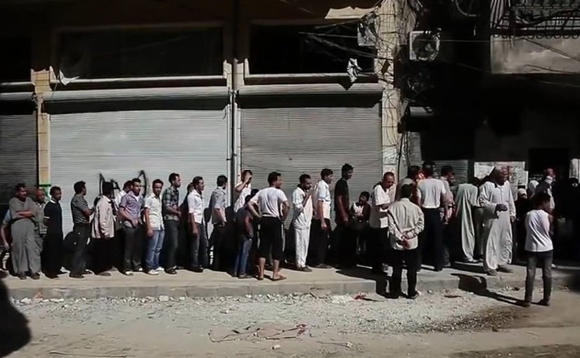
<svg viewBox="0 0 580 358">
<path fill-rule="evenodd" d="M 328 235 L 330 234 L 330 183 L 333 183 L 333 171 L 324 168 L 320 172 L 321 180 L 316 184 L 313 194 L 314 220 L 311 225 L 310 257 L 307 259 L 312 267 L 328 269 Z"/>
</svg>

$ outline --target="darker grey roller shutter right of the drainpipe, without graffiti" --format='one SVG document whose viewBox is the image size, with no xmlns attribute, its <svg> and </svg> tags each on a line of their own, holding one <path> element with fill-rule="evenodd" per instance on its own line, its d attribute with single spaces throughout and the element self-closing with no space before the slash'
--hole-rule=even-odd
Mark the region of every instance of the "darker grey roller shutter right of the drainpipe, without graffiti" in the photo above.
<svg viewBox="0 0 580 358">
<path fill-rule="evenodd" d="M 280 171 L 290 200 L 299 175 L 316 182 L 330 168 L 338 180 L 349 163 L 349 194 L 356 201 L 381 177 L 380 107 L 244 108 L 241 146 L 242 168 L 254 172 L 254 187 L 266 187 L 268 173 Z"/>
</svg>

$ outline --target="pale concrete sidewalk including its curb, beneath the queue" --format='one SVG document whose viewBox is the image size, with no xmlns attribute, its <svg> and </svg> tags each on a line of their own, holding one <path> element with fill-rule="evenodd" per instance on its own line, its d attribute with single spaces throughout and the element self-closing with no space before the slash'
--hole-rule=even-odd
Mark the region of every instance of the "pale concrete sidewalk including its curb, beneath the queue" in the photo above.
<svg viewBox="0 0 580 358">
<path fill-rule="evenodd" d="M 442 289 L 496 289 L 505 286 L 523 287 L 525 268 L 513 266 L 514 273 L 500 274 L 497 277 L 482 273 L 481 265 L 461 265 L 461 270 L 445 269 L 433 272 L 423 269 L 418 277 L 420 291 L 441 291 Z M 568 286 L 572 282 L 572 273 L 580 274 L 577 268 L 570 270 L 553 270 L 554 286 Z M 17 277 L 6 277 L 9 296 L 16 300 L 22 298 L 102 298 L 102 297 L 211 297 L 211 296 L 245 296 L 259 294 L 285 293 L 384 293 L 387 277 L 377 277 L 370 270 L 359 267 L 353 270 L 321 270 L 311 273 L 283 270 L 288 279 L 284 281 L 257 281 L 255 279 L 235 279 L 224 272 L 206 270 L 202 274 L 179 271 L 176 275 L 160 273 L 149 276 L 136 273 L 133 277 L 122 276 L 111 272 L 111 277 L 99 277 L 93 274 L 84 279 L 70 279 L 62 275 L 58 279 L 44 276 L 39 280 L 20 280 Z M 266 272 L 268 274 L 268 272 Z M 536 274 L 540 284 L 541 272 Z"/>
</svg>

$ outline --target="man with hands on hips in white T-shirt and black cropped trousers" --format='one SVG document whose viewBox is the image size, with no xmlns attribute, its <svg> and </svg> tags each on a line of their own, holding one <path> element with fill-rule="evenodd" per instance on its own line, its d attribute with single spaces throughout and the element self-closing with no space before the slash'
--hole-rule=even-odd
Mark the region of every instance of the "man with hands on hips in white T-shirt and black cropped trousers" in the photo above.
<svg viewBox="0 0 580 358">
<path fill-rule="evenodd" d="M 271 280 L 281 281 L 286 278 L 280 274 L 280 260 L 283 257 L 283 221 L 288 215 L 290 206 L 286 194 L 280 189 L 282 183 L 282 174 L 273 171 L 268 175 L 270 186 L 257 192 L 247 206 L 252 215 L 261 218 L 258 246 L 259 280 L 264 279 L 264 266 L 270 254 L 273 260 Z M 259 213 L 254 204 L 259 208 Z"/>
</svg>

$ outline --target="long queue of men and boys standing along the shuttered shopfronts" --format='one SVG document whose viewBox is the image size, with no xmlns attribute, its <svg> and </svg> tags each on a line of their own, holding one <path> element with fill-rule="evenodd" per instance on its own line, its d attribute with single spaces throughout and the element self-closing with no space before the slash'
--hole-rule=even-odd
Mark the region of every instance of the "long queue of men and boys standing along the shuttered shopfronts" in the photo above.
<svg viewBox="0 0 580 358">
<path fill-rule="evenodd" d="M 89 273 L 109 276 L 112 267 L 117 267 L 127 276 L 211 268 L 258 280 L 271 270 L 268 278 L 280 281 L 285 279 L 283 265 L 302 272 L 311 272 L 311 267 L 329 268 L 330 263 L 349 268 L 361 263 L 359 253 L 366 253 L 366 263 L 374 274 L 385 274 L 385 264 L 392 267 L 389 291 L 395 298 L 401 296 L 403 267 L 408 298 L 418 296 L 417 272 L 423 263 L 441 271 L 453 260 L 482 261 L 487 274 L 511 272 L 511 225 L 522 216 L 517 216 L 507 169 L 496 168 L 484 183 L 474 179 L 456 190 L 451 190 L 453 168 L 444 166 L 440 172 L 436 178 L 434 163 L 425 162 L 421 168 L 411 166 L 399 183 L 395 183 L 394 173 L 387 172 L 372 191 L 361 192 L 359 200 L 351 204 L 348 182 L 354 168 L 349 164 L 341 168 L 334 198 L 330 194 L 334 174 L 328 168 L 321 171 L 316 183 L 310 175 L 301 175 L 291 200 L 281 189 L 281 173 L 270 173 L 269 186 L 255 190 L 252 172 L 246 170 L 235 187 L 231 206 L 227 203 L 228 178 L 219 175 L 207 208 L 205 180 L 199 176 L 189 183 L 183 201 L 177 173 L 169 175 L 165 190 L 162 180 L 154 180 L 146 197 L 141 195 L 138 178 L 129 180 L 118 193 L 111 183 L 103 183 L 92 208 L 85 199 L 86 184 L 79 181 L 70 201 L 74 227 L 68 240 L 62 228 L 62 190 L 52 187 L 51 199 L 45 204 L 44 192 L 37 190 L 31 199 L 25 185 L 19 184 L 0 230 L 1 239 L 11 249 L 12 272 L 20 279 L 39 279 L 41 271 L 49 278 L 63 274 L 65 248 L 69 258 L 65 266 L 75 279 Z M 529 274 L 541 261 L 548 284 L 546 263 L 551 265 L 551 256 L 546 251 L 551 241 L 548 244 L 549 234 L 544 230 L 546 216 L 538 210 L 551 210 L 553 200 L 547 190 L 539 193 L 534 210 L 530 208 L 523 218 L 527 230 L 524 246 L 530 258 Z M 331 230 L 333 202 L 335 229 Z M 210 222 L 213 230 L 208 237 Z M 538 225 L 543 225 L 544 232 L 538 233 Z M 536 242 L 540 244 L 530 244 Z M 549 302 L 549 297 L 544 300 Z"/>
</svg>

